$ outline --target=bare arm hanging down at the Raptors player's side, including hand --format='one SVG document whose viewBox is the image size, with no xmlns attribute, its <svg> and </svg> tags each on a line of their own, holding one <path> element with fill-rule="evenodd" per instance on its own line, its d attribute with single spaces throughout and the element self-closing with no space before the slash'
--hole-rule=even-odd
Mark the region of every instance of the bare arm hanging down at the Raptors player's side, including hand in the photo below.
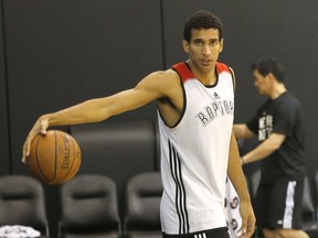
<svg viewBox="0 0 318 238">
<path fill-rule="evenodd" d="M 240 213 L 242 217 L 242 227 L 240 228 L 241 237 L 252 237 L 255 229 L 255 215 L 251 204 L 245 176 L 241 166 L 241 159 L 239 148 L 234 133 L 231 136 L 227 176 L 230 177 L 239 197 L 240 197 Z"/>
</svg>

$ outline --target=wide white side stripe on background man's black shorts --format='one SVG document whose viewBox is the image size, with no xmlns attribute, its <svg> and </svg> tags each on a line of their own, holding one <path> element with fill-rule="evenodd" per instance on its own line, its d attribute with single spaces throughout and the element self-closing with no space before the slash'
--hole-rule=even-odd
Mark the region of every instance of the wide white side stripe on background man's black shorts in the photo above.
<svg viewBox="0 0 318 238">
<path fill-rule="evenodd" d="M 287 194 L 285 201 L 285 213 L 283 218 L 283 228 L 292 229 L 293 212 L 294 212 L 294 195 L 296 190 L 296 181 L 288 182 Z"/>
</svg>

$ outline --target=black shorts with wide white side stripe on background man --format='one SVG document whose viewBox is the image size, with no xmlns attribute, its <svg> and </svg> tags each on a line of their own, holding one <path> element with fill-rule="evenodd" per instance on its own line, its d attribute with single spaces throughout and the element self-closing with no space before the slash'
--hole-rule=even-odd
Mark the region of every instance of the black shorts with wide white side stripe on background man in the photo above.
<svg viewBox="0 0 318 238">
<path fill-rule="evenodd" d="M 300 229 L 304 180 L 259 184 L 255 197 L 257 226 Z"/>
</svg>

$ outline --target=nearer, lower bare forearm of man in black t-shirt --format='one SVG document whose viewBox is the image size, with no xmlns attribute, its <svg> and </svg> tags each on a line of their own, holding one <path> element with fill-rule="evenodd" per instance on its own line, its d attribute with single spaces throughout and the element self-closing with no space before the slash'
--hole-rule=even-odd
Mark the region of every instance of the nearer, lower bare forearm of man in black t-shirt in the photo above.
<svg viewBox="0 0 318 238">
<path fill-rule="evenodd" d="M 251 163 L 267 158 L 278 150 L 286 139 L 285 134 L 271 133 L 258 147 L 242 156 L 242 164 Z"/>
</svg>

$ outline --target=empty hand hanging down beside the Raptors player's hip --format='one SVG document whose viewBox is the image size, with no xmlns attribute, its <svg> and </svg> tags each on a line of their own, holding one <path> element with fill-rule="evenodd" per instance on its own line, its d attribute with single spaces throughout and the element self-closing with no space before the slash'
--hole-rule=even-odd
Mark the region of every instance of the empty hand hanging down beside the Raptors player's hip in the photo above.
<svg viewBox="0 0 318 238">
<path fill-rule="evenodd" d="M 241 202 L 240 213 L 242 217 L 242 226 L 239 229 L 239 237 L 250 238 L 254 234 L 256 223 L 251 202 Z"/>
</svg>

